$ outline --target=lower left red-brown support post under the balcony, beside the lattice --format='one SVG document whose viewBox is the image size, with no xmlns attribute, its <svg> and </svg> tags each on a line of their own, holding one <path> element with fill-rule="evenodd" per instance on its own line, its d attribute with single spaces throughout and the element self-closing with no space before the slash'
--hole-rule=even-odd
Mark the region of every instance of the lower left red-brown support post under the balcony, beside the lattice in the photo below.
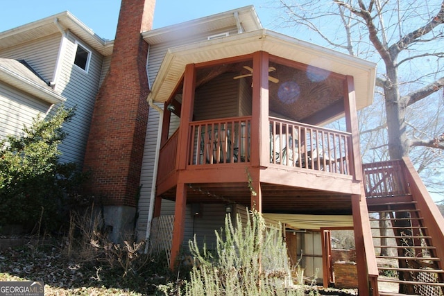
<svg viewBox="0 0 444 296">
<path fill-rule="evenodd" d="M 169 267 L 174 269 L 177 256 L 182 245 L 185 232 L 185 212 L 187 209 L 187 187 L 179 183 L 176 187 L 176 205 L 174 207 L 173 241 L 171 242 L 171 258 Z"/>
</svg>

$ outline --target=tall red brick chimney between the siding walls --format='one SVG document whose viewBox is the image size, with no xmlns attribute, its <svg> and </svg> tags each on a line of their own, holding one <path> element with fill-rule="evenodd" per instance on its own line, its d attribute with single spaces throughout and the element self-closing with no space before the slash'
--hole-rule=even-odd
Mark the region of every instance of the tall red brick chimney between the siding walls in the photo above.
<svg viewBox="0 0 444 296">
<path fill-rule="evenodd" d="M 110 71 L 96 97 L 84 167 L 87 191 L 101 197 L 105 224 L 119 241 L 132 230 L 148 121 L 146 76 L 155 0 L 122 0 Z"/>
</svg>

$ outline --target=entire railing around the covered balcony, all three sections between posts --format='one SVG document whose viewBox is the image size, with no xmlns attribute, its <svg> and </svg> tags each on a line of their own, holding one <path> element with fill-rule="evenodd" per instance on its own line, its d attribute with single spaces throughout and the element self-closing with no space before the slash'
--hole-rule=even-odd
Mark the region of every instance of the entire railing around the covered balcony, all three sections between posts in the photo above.
<svg viewBox="0 0 444 296">
<path fill-rule="evenodd" d="M 349 132 L 273 117 L 269 124 L 270 164 L 350 175 Z M 251 128 L 251 116 L 189 123 L 187 165 L 250 162 Z M 160 149 L 159 179 L 176 168 L 178 130 Z"/>
</svg>

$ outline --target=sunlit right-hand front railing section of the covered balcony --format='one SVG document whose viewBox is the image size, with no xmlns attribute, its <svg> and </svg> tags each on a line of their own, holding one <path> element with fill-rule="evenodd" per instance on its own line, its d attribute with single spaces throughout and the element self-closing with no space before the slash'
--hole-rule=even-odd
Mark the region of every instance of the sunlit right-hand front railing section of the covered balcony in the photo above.
<svg viewBox="0 0 444 296">
<path fill-rule="evenodd" d="M 270 117 L 270 163 L 350 175 L 351 134 Z"/>
</svg>

